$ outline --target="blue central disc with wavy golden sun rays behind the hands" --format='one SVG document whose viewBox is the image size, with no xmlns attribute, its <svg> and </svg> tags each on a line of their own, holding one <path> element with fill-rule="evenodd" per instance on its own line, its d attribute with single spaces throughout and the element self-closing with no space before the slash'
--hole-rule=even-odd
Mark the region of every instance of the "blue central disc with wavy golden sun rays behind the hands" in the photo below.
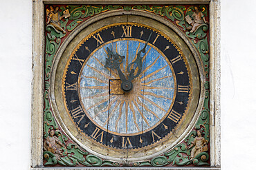
<svg viewBox="0 0 256 170">
<path fill-rule="evenodd" d="M 134 39 L 111 41 L 92 52 L 80 72 L 80 100 L 84 111 L 93 123 L 113 134 L 144 133 L 161 123 L 172 108 L 176 95 L 174 71 L 170 61 L 154 45 L 146 48 L 143 71 L 131 81 L 134 88 L 124 94 L 109 92 L 109 80 L 120 78 L 116 70 L 104 67 L 107 47 L 125 56 L 120 70 L 127 77 L 129 63 L 136 60 L 144 44 Z M 136 75 L 138 67 L 131 67 L 135 68 Z"/>
</svg>

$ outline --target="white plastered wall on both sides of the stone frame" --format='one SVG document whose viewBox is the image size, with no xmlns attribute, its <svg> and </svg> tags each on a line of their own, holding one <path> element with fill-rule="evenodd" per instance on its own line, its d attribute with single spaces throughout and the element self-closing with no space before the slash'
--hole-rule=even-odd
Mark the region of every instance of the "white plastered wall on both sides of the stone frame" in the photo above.
<svg viewBox="0 0 256 170">
<path fill-rule="evenodd" d="M 221 169 L 255 169 L 255 6 L 221 0 Z M 0 169 L 30 168 L 32 13 L 1 0 Z"/>
</svg>

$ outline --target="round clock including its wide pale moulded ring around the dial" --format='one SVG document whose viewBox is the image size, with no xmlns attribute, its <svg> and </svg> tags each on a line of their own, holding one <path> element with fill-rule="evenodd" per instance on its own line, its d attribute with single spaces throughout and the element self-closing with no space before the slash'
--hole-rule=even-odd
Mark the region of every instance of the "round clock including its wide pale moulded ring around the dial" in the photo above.
<svg viewBox="0 0 256 170">
<path fill-rule="evenodd" d="M 198 61 L 167 25 L 112 16 L 66 44 L 55 61 L 52 104 L 77 145 L 110 160 L 145 160 L 190 131 L 201 95 Z"/>
</svg>

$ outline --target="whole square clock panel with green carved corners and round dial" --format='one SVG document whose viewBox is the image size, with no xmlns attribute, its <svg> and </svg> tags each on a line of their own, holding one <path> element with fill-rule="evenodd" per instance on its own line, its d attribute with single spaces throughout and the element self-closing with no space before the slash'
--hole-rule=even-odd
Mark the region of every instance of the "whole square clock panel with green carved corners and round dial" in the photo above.
<svg viewBox="0 0 256 170">
<path fill-rule="evenodd" d="M 209 165 L 208 6 L 47 5 L 45 10 L 44 166 Z M 58 64 L 57 50 L 68 35 L 110 11 L 161 16 L 195 51 L 162 23 L 121 15 L 81 30 Z M 177 139 L 186 129 L 183 140 Z"/>
</svg>

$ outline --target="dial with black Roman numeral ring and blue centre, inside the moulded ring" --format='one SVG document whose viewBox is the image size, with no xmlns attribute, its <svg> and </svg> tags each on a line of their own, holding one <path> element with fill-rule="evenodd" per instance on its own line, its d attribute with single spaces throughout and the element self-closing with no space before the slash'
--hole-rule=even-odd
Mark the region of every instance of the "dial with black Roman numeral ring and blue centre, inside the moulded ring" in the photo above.
<svg viewBox="0 0 256 170">
<path fill-rule="evenodd" d="M 75 47 L 62 92 L 82 135 L 107 147 L 138 149 L 161 142 L 179 127 L 192 82 L 172 39 L 147 25 L 117 23 L 95 30 Z"/>
</svg>

